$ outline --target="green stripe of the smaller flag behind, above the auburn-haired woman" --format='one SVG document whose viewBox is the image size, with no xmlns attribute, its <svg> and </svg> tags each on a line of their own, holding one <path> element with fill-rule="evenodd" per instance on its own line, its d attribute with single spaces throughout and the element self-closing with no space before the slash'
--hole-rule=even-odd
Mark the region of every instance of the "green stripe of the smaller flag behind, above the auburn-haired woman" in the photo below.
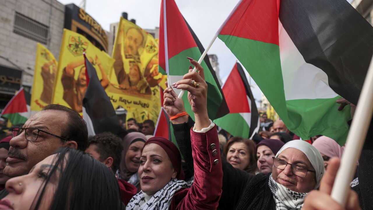
<svg viewBox="0 0 373 210">
<path fill-rule="evenodd" d="M 214 123 L 233 136 L 249 138 L 250 127 L 239 113 L 227 114 L 214 120 Z"/>
</svg>

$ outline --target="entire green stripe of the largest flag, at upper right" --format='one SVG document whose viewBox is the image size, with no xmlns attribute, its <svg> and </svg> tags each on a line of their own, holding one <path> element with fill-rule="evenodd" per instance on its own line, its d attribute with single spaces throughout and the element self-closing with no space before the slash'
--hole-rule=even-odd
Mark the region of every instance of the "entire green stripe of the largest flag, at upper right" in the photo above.
<svg viewBox="0 0 373 210">
<path fill-rule="evenodd" d="M 282 76 L 286 69 L 281 69 L 278 45 L 231 35 L 218 37 L 246 68 L 289 130 L 302 139 L 325 135 L 344 144 L 350 111 L 338 111 L 335 100 L 340 96 L 286 101 Z"/>
</svg>

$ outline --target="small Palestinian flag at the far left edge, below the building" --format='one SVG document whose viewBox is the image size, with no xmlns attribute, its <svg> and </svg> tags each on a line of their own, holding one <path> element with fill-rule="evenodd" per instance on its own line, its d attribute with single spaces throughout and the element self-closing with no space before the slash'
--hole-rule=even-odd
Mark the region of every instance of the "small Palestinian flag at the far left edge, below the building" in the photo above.
<svg viewBox="0 0 373 210">
<path fill-rule="evenodd" d="M 30 93 L 20 90 L 13 96 L 1 112 L 1 117 L 7 118 L 13 125 L 24 124 L 30 117 Z"/>
</svg>

